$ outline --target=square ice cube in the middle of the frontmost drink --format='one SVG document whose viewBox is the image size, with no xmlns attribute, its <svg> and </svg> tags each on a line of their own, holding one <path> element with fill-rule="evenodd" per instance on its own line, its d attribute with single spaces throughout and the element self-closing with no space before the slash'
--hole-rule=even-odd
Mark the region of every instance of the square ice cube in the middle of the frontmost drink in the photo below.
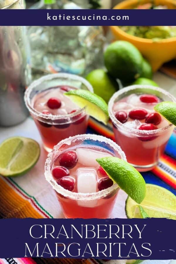
<svg viewBox="0 0 176 264">
<path fill-rule="evenodd" d="M 90 168 L 77 169 L 77 192 L 92 193 L 97 192 L 97 173 L 96 170 Z M 94 207 L 97 199 L 90 201 L 78 201 L 78 205 L 82 207 Z"/>
</svg>

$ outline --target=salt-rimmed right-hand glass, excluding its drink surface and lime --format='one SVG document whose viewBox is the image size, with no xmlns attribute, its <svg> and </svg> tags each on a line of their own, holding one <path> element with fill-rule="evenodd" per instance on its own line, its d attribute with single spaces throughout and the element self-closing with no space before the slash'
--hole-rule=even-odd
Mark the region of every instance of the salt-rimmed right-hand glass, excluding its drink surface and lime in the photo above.
<svg viewBox="0 0 176 264">
<path fill-rule="evenodd" d="M 130 94 L 154 94 L 161 101 L 173 101 L 176 99 L 170 93 L 159 87 L 148 85 L 132 85 L 116 92 L 110 99 L 108 109 L 113 123 L 113 131 L 116 143 L 126 154 L 127 161 L 139 171 L 148 171 L 155 167 L 165 146 L 172 134 L 174 126 L 167 126 L 155 130 L 139 130 L 125 126 L 118 121 L 113 113 L 114 103 Z M 121 109 L 123 110 L 123 109 Z M 151 140 L 143 140 L 140 138 Z"/>
</svg>

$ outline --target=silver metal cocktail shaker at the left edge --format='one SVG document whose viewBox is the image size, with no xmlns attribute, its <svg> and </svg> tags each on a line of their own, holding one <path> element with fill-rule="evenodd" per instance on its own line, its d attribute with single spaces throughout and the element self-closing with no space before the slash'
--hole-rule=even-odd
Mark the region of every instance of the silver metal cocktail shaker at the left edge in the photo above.
<svg viewBox="0 0 176 264">
<path fill-rule="evenodd" d="M 23 97 L 30 79 L 26 28 L 0 26 L 0 126 L 13 126 L 28 116 Z"/>
</svg>

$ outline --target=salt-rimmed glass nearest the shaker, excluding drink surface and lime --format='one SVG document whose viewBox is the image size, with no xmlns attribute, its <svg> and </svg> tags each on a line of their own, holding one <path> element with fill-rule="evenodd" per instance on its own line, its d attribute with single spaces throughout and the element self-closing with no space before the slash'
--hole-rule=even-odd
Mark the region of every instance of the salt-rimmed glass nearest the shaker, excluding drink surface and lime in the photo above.
<svg viewBox="0 0 176 264">
<path fill-rule="evenodd" d="M 33 98 L 36 94 L 40 94 L 48 88 L 60 85 L 93 92 L 93 88 L 87 80 L 80 76 L 67 73 L 46 75 L 32 82 L 26 89 L 24 97 L 26 106 L 40 132 L 44 148 L 48 152 L 50 152 L 62 139 L 85 133 L 89 119 L 89 116 L 86 115 L 85 108 L 79 109 L 72 114 L 47 115 L 40 113 L 33 107 Z M 82 119 L 84 116 L 85 118 Z M 82 119 L 82 122 L 78 122 L 80 119 Z"/>
</svg>

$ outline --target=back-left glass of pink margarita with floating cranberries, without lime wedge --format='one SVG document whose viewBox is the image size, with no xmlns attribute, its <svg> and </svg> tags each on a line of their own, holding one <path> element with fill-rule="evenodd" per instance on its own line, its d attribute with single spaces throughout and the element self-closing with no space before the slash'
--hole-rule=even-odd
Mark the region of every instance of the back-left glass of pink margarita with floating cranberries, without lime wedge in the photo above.
<svg viewBox="0 0 176 264">
<path fill-rule="evenodd" d="M 62 139 L 86 132 L 89 116 L 64 95 L 71 89 L 93 92 L 89 82 L 77 75 L 57 73 L 34 81 L 26 90 L 25 102 L 50 152 Z"/>
</svg>

